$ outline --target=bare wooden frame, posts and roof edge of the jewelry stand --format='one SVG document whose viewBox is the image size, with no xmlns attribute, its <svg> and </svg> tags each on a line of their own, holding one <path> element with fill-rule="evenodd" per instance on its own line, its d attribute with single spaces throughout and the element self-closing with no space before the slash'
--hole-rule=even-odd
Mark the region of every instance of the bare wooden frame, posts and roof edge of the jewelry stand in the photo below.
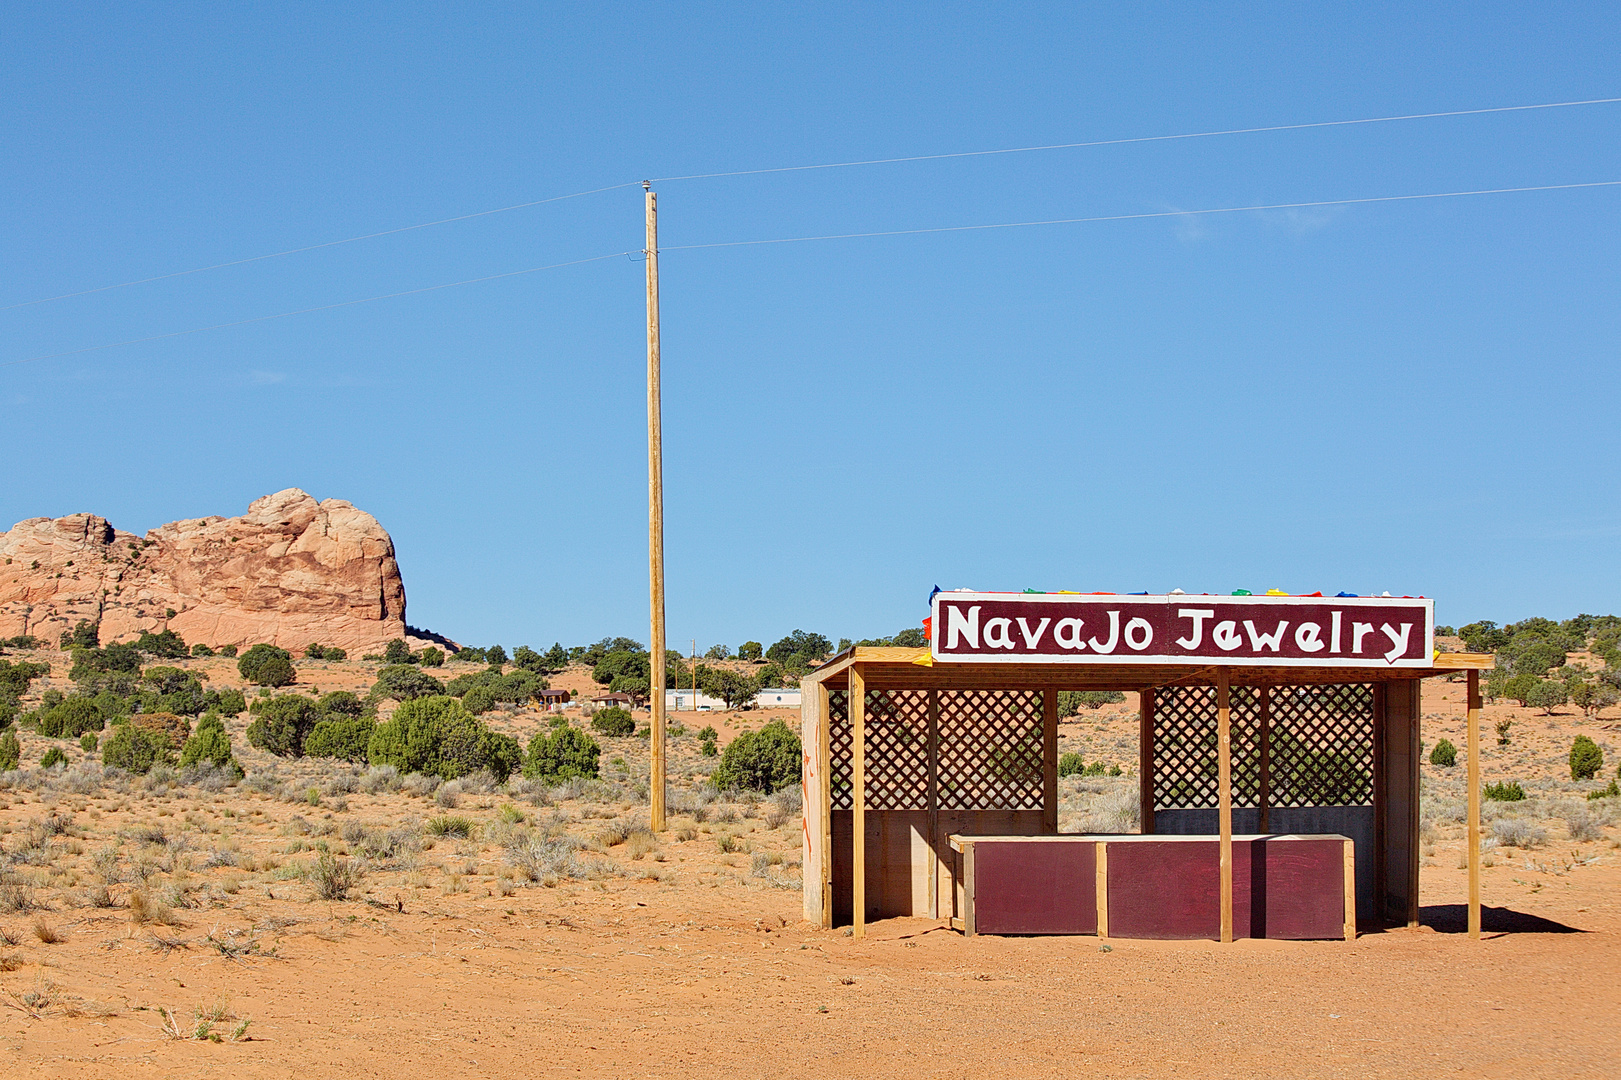
<svg viewBox="0 0 1621 1080">
<path fill-rule="evenodd" d="M 1213 686 L 1217 694 L 1217 832 L 1221 848 L 1221 941 L 1234 941 L 1234 777 L 1229 696 L 1234 688 L 1258 688 L 1266 717 L 1268 694 L 1281 688 L 1370 683 L 1375 731 L 1375 837 L 1365 858 L 1345 850 L 1345 924 L 1417 924 L 1418 921 L 1418 688 L 1422 679 L 1465 675 L 1469 681 L 1469 761 L 1478 757 L 1478 679 L 1493 658 L 1477 654 L 1439 654 L 1426 668 L 1310 668 L 1195 666 L 1195 665 L 1052 665 L 1052 663 L 932 663 L 927 649 L 854 647 L 833 657 L 802 681 L 804 712 L 804 913 L 820 926 L 846 923 L 854 936 L 866 934 L 870 918 L 921 915 L 973 926 L 963 913 L 961 879 L 973 871 L 973 845 L 961 853 L 961 868 L 950 837 L 1057 835 L 1057 692 L 1118 689 L 1141 694 L 1143 832 L 1156 832 L 1153 801 L 1153 731 L 1157 692 L 1172 688 Z M 869 702 L 883 691 L 926 691 L 927 770 L 924 806 L 913 809 L 869 808 L 869 780 L 887 764 L 869 730 Z M 1039 806 L 1034 809 L 974 809 L 947 806 L 942 793 L 942 756 L 955 749 L 942 733 L 940 696 L 945 692 L 1024 692 L 1041 699 Z M 851 746 L 848 757 L 833 759 L 832 696 L 848 702 Z M 1260 777 L 1269 785 L 1268 723 L 1263 720 Z M 843 751 L 840 751 L 843 754 Z M 908 752 L 916 752 L 911 748 Z M 849 809 L 835 806 L 833 772 L 846 769 Z M 1470 897 L 1469 926 L 1478 936 L 1478 783 L 1472 780 L 1469 806 Z M 1034 788 L 1033 788 L 1034 790 Z M 843 801 L 840 788 L 840 801 Z M 961 803 L 961 793 L 958 793 Z M 1258 811 L 1263 829 L 1268 804 Z M 1276 816 L 1281 811 L 1272 811 Z M 1107 845 L 1099 856 L 1101 881 L 1107 881 Z M 1360 884 L 1365 898 L 1357 903 Z M 1370 885 L 1371 882 L 1371 885 Z M 1109 932 L 1107 889 L 1099 885 L 1099 929 Z M 848 908 L 846 908 L 848 903 Z"/>
</svg>

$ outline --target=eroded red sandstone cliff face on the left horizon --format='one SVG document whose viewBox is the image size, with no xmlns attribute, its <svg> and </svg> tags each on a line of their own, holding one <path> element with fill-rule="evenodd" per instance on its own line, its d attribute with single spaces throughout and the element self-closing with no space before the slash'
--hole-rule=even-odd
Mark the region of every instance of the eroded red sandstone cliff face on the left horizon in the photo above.
<svg viewBox="0 0 1621 1080">
<path fill-rule="evenodd" d="M 376 517 L 298 488 L 254 499 L 242 517 L 177 521 L 146 537 L 94 514 L 31 517 L 0 534 L 0 637 L 55 644 L 79 619 L 99 621 L 102 642 L 167 626 L 214 647 L 378 652 L 405 636 L 405 584 Z"/>
</svg>

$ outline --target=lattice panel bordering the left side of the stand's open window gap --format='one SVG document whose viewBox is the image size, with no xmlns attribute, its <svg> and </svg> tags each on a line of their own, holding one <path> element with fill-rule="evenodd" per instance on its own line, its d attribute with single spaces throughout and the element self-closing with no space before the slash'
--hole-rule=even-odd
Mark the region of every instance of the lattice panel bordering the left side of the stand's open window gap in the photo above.
<svg viewBox="0 0 1621 1080">
<path fill-rule="evenodd" d="M 940 808 L 1041 809 L 1041 691 L 940 692 Z"/>
</svg>

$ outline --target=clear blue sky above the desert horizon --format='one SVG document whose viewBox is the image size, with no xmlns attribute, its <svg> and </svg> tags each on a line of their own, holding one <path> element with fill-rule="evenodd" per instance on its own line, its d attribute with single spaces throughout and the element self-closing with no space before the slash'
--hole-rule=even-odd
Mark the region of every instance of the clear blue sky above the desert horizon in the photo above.
<svg viewBox="0 0 1621 1080">
<path fill-rule="evenodd" d="M 1621 96 L 1559 5 L 70 5 L 0 306 L 644 177 Z M 663 243 L 1621 180 L 1621 105 L 660 183 Z M 642 246 L 605 195 L 0 311 L 0 362 Z M 669 251 L 669 639 L 929 589 L 1621 610 L 1621 188 Z M 302 486 L 467 642 L 647 639 L 629 258 L 0 366 L 0 529 Z"/>
</svg>

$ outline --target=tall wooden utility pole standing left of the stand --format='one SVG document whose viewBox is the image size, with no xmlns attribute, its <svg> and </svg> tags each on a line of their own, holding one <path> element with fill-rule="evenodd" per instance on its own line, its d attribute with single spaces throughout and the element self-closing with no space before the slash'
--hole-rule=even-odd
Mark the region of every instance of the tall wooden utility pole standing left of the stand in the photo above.
<svg viewBox="0 0 1621 1080">
<path fill-rule="evenodd" d="M 658 388 L 658 195 L 647 191 L 647 574 L 652 606 L 653 775 L 648 824 L 665 830 L 665 441 Z"/>
</svg>

